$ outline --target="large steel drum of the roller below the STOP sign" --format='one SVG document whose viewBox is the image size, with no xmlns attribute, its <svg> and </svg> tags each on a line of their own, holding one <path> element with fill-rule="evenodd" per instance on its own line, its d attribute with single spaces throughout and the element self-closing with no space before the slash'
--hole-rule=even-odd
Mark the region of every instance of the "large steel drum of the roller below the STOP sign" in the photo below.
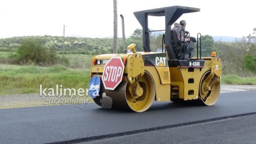
<svg viewBox="0 0 256 144">
<path fill-rule="evenodd" d="M 129 92 L 130 83 L 122 81 L 114 90 L 106 90 L 101 81 L 101 90 L 98 97 L 94 98 L 94 102 L 101 105 L 100 99 L 102 93 L 112 98 L 112 109 L 132 110 L 134 112 L 144 112 L 152 105 L 155 99 L 155 82 L 153 77 L 145 71 L 145 74 L 139 80 L 140 90 L 143 94 L 139 97 L 134 97 Z M 140 96 L 141 95 L 141 96 Z"/>
</svg>

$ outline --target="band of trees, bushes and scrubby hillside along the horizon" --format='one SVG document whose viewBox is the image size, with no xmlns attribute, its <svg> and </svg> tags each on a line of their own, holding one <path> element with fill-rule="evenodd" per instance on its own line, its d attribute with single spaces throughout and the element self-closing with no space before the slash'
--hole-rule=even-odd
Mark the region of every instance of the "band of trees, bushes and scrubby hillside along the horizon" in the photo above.
<svg viewBox="0 0 256 144">
<path fill-rule="evenodd" d="M 142 29 L 136 29 L 127 38 L 127 45 L 135 43 L 137 51 L 143 51 Z M 14 63 L 35 63 L 54 65 L 63 62 L 57 56 L 62 54 L 63 37 L 61 36 L 23 36 L 0 39 L 0 51 L 16 52 L 11 58 Z M 238 74 L 241 76 L 256 73 L 256 28 L 252 34 L 236 39 L 234 42 L 214 41 L 212 36 L 202 36 L 202 56 L 210 57 L 215 51 L 222 59 L 224 74 Z M 162 34 L 150 34 L 151 51 L 162 47 Z M 122 39 L 118 38 L 118 53 L 122 53 Z M 65 38 L 65 54 L 110 54 L 113 52 L 112 38 Z M 68 64 L 68 59 L 64 61 Z"/>
</svg>

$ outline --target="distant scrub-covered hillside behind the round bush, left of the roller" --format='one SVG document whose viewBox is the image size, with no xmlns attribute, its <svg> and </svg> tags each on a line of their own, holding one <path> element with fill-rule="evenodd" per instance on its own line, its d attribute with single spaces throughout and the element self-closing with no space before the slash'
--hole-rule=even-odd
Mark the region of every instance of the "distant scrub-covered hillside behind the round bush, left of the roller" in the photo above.
<svg viewBox="0 0 256 144">
<path fill-rule="evenodd" d="M 62 36 L 19 36 L 0 39 L 0 51 L 16 51 L 20 44 L 27 39 L 40 39 L 46 47 L 54 46 L 57 51 L 63 48 Z M 118 38 L 117 42 L 118 46 L 123 45 L 121 38 Z M 65 52 L 67 54 L 92 54 L 94 51 L 105 52 L 112 48 L 113 39 L 109 38 L 81 38 L 79 35 L 65 37 Z"/>
</svg>

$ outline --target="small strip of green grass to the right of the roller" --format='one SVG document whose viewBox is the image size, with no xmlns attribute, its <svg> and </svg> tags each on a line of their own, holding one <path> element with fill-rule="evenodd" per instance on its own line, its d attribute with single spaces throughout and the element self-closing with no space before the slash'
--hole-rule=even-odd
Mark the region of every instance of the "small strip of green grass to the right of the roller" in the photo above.
<svg viewBox="0 0 256 144">
<path fill-rule="evenodd" d="M 255 77 L 238 77 L 237 75 L 223 75 L 221 83 L 232 84 L 232 85 L 256 85 Z"/>
</svg>

